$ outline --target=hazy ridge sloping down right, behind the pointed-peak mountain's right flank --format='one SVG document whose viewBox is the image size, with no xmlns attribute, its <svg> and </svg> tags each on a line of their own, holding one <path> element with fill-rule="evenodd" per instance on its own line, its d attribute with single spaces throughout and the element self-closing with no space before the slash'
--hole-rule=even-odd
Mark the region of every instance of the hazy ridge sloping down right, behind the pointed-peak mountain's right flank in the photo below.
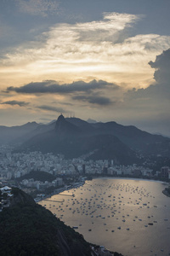
<svg viewBox="0 0 170 256">
<path fill-rule="evenodd" d="M 116 122 L 96 123 L 93 125 L 98 134 L 112 134 L 129 148 L 146 154 L 169 156 L 170 139 L 141 131 L 133 125 L 119 125 Z"/>
</svg>

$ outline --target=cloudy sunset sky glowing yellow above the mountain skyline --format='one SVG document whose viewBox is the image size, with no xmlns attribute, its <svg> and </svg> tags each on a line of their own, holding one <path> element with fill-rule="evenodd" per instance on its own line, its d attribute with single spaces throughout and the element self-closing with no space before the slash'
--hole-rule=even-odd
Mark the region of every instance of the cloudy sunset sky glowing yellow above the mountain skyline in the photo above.
<svg viewBox="0 0 170 256">
<path fill-rule="evenodd" d="M 170 136 L 169 0 L 1 0 L 0 125 L 65 117 Z"/>
</svg>

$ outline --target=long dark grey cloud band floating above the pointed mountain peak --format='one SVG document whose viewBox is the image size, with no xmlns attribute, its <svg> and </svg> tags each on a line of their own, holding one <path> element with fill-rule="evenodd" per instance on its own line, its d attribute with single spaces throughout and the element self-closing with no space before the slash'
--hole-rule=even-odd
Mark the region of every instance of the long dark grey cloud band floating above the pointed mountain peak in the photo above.
<svg viewBox="0 0 170 256">
<path fill-rule="evenodd" d="M 10 86 L 6 92 L 15 91 L 22 94 L 59 94 L 69 95 L 72 100 L 88 102 L 100 106 L 108 106 L 113 102 L 109 97 L 101 96 L 101 90 L 119 90 L 120 87 L 116 84 L 108 83 L 104 80 L 92 80 L 88 83 L 84 81 L 73 82 L 72 84 L 58 84 L 54 80 L 45 80 L 26 84 L 20 87 Z M 43 109 L 54 111 L 53 107 L 42 106 Z M 52 109 L 53 108 L 53 109 Z M 63 112 L 59 111 L 59 112 Z"/>
</svg>

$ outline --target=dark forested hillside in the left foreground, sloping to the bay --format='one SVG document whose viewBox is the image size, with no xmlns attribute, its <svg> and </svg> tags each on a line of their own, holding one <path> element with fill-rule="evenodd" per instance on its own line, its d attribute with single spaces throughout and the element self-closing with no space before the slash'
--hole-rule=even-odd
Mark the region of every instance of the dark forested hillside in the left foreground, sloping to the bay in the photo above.
<svg viewBox="0 0 170 256">
<path fill-rule="evenodd" d="M 0 212 L 0 255 L 94 255 L 82 235 L 35 203 L 30 195 L 17 188 L 12 194 L 10 207 Z"/>
</svg>

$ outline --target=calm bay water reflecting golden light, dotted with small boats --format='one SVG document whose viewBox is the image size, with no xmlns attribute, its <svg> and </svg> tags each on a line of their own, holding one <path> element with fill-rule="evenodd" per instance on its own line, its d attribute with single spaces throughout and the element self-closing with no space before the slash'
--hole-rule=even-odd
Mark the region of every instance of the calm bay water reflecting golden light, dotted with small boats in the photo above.
<svg viewBox="0 0 170 256">
<path fill-rule="evenodd" d="M 40 204 L 87 241 L 124 256 L 170 255 L 170 198 L 164 183 L 98 178 Z M 74 195 L 74 196 L 72 196 Z M 64 201 L 64 202 L 54 202 Z"/>
</svg>

